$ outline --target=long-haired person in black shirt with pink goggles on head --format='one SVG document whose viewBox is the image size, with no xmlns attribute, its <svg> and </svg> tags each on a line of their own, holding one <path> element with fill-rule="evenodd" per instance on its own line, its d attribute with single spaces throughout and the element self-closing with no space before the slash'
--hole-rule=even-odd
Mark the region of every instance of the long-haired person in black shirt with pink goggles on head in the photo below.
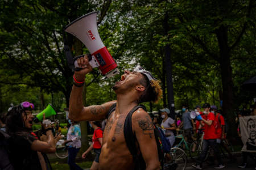
<svg viewBox="0 0 256 170">
<path fill-rule="evenodd" d="M 28 109 L 30 106 L 26 107 L 26 105 L 20 104 L 10 109 L 7 114 L 6 132 L 11 136 L 9 139 L 10 160 L 14 169 L 45 170 L 47 166 L 42 161 L 40 162 L 39 158 L 42 158 L 41 152 L 52 153 L 56 151 L 55 140 L 49 124 L 42 124 L 47 135 L 46 142 L 38 140 L 35 135 L 31 134 L 34 116 Z"/>
</svg>

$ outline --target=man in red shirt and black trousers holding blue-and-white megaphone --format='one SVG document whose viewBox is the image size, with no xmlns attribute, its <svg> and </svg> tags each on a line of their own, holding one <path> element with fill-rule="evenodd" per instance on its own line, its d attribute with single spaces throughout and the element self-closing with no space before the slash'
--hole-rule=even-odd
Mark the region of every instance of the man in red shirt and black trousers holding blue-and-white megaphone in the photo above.
<svg viewBox="0 0 256 170">
<path fill-rule="evenodd" d="M 212 147 L 214 151 L 214 155 L 217 158 L 218 166 L 214 167 L 215 169 L 221 169 L 224 168 L 225 165 L 222 164 L 220 152 L 218 151 L 217 147 L 217 134 L 216 134 L 216 125 L 214 124 L 215 116 L 212 112 L 210 112 L 210 104 L 205 103 L 203 105 L 204 108 L 204 114 L 205 118 L 202 118 L 202 116 L 197 116 L 197 120 L 200 121 L 200 124 L 204 126 L 204 141 L 203 141 L 203 151 L 201 155 L 199 156 L 199 160 L 196 164 L 192 164 L 192 167 L 197 169 L 202 169 L 202 165 L 205 159 L 205 156 L 207 155 L 209 146 Z"/>
</svg>

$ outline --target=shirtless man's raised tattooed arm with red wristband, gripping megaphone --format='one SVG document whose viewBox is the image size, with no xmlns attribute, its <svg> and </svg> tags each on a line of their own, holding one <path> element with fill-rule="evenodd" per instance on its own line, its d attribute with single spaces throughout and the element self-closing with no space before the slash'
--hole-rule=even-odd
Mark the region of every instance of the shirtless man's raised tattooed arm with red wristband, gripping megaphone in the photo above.
<svg viewBox="0 0 256 170">
<path fill-rule="evenodd" d="M 85 75 L 92 71 L 92 66 L 89 65 L 87 56 L 77 59 L 77 63 L 83 69 L 75 71 L 74 82 L 69 98 L 69 118 L 74 121 L 96 121 L 104 120 L 108 114 L 109 108 L 116 101 L 109 101 L 102 105 L 91 105 L 84 107 L 82 104 L 82 87 L 85 80 Z"/>
</svg>

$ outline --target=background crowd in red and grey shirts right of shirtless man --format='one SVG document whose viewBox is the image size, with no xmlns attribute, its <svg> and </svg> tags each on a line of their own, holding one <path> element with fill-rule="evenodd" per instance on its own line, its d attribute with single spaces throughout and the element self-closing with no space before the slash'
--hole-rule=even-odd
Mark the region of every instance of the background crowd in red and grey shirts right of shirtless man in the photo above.
<svg viewBox="0 0 256 170">
<path fill-rule="evenodd" d="M 241 137 L 240 133 L 240 124 L 239 117 L 242 116 L 253 116 L 254 115 L 254 106 L 251 106 L 250 110 L 245 107 L 237 112 L 237 132 L 238 136 Z M 191 118 L 191 112 L 196 113 L 195 118 Z M 159 126 L 163 129 L 166 138 L 169 140 L 171 147 L 175 145 L 175 135 L 183 134 L 185 141 L 193 142 L 198 140 L 204 132 L 203 137 L 203 151 L 195 164 L 192 164 L 192 167 L 196 169 L 203 168 L 203 162 L 207 156 L 209 146 L 214 151 L 214 158 L 217 159 L 218 166 L 216 169 L 224 168 L 220 156 L 219 146 L 225 148 L 228 152 L 230 162 L 234 162 L 236 157 L 232 155 L 229 150 L 226 142 L 226 135 L 228 132 L 228 124 L 226 123 L 226 117 L 222 113 L 221 109 L 218 109 L 216 105 L 210 105 L 205 103 L 203 107 L 196 105 L 195 111 L 189 111 L 188 107 L 185 105 L 182 106 L 181 111 L 175 114 L 170 114 L 170 109 L 164 108 L 160 109 L 158 113 L 153 114 L 153 122 L 155 126 Z M 195 146 L 196 147 L 196 146 Z M 195 147 L 192 147 L 192 152 L 196 150 Z M 247 157 L 250 156 L 253 160 L 256 158 L 255 154 L 250 152 L 242 152 L 243 162 L 241 165 L 238 165 L 239 168 L 245 168 L 247 165 Z M 214 162 L 214 160 L 212 160 Z"/>
</svg>

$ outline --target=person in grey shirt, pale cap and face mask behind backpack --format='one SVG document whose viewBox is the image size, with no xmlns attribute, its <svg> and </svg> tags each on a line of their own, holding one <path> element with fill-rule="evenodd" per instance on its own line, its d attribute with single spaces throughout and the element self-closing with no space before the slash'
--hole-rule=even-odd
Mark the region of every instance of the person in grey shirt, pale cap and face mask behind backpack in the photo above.
<svg viewBox="0 0 256 170">
<path fill-rule="evenodd" d="M 169 140 L 170 145 L 174 145 L 175 137 L 174 137 L 174 130 L 176 130 L 175 121 L 168 117 L 170 110 L 168 108 L 160 109 L 161 117 L 163 118 L 161 123 L 161 128 L 165 130 L 166 138 Z"/>
</svg>

